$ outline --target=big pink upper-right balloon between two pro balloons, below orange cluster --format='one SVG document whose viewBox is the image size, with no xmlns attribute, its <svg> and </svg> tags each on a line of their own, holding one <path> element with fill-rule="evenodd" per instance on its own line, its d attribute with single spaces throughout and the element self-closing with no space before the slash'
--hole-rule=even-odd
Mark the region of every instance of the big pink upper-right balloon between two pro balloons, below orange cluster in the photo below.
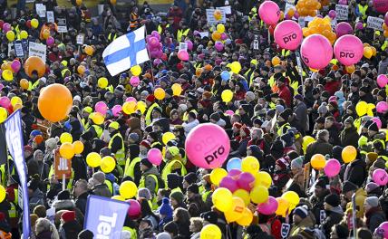
<svg viewBox="0 0 388 239">
<path fill-rule="evenodd" d="M 309 35 L 300 48 L 303 62 L 313 69 L 323 69 L 333 58 L 333 48 L 329 40 L 321 34 Z"/>
</svg>

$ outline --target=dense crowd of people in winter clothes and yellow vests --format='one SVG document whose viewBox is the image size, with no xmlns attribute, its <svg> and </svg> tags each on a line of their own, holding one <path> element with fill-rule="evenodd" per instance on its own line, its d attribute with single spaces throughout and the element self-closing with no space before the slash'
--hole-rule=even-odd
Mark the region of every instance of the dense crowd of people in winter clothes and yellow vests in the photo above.
<svg viewBox="0 0 388 239">
<path fill-rule="evenodd" d="M 298 69 L 296 52 L 276 45 L 273 31 L 268 31 L 257 14 L 262 1 L 177 0 L 167 14 L 157 13 L 147 2 L 138 6 L 132 0 L 129 11 L 122 14 L 115 1 L 105 1 L 102 14 L 95 16 L 78 0 L 68 9 L 55 0 L 34 2 L 53 11 L 55 20 L 65 18 L 68 32 L 58 33 L 57 26 L 47 23 L 34 7 L 18 9 L 13 15 L 7 1 L 0 1 L 2 25 L 11 24 L 16 39 L 25 31 L 28 41 L 46 43 L 44 29 L 54 38 L 52 45 L 47 44 L 44 76 L 29 75 L 22 67 L 14 72 L 13 81 L 0 84 L 1 97 L 22 100 L 30 204 L 30 212 L 18 206 L 19 177 L 8 157 L 0 169 L 1 185 L 7 192 L 0 203 L 2 238 L 20 238 L 23 214 L 30 215 L 31 238 L 95 238 L 83 229 L 88 196 L 118 199 L 126 181 L 138 187 L 132 199 L 141 205 L 141 213 L 127 215 L 121 238 L 209 238 L 201 235 L 206 225 L 217 225 L 222 238 L 387 238 L 380 225 L 388 218 L 388 190 L 373 181 L 374 170 L 387 167 L 387 110 L 370 106 L 388 102 L 385 87 L 379 87 L 376 80 L 388 71 L 388 41 L 383 32 L 366 27 L 369 15 L 383 19 L 371 3 L 350 1 L 347 22 L 354 27 L 364 24 L 354 35 L 376 53 L 363 57 L 352 71 L 340 62 L 313 71 L 306 65 Z M 285 9 L 286 1 L 275 2 Z M 327 1 L 319 14 L 325 16 L 336 4 Z M 224 24 L 223 48 L 216 49 L 211 36 L 215 26 L 208 24 L 206 9 L 221 6 L 230 6 L 231 12 Z M 32 19 L 39 21 L 37 28 L 27 24 Z M 140 84 L 133 86 L 131 71 L 110 75 L 102 52 L 117 37 L 142 25 L 147 34 L 160 34 L 163 53 L 141 64 Z M 77 44 L 76 36 L 81 33 L 84 45 Z M 2 71 L 6 62 L 25 61 L 8 49 L 7 36 L 0 33 Z M 193 44 L 189 61 L 181 61 L 179 43 L 187 41 Z M 86 45 L 92 46 L 92 54 L 86 53 Z M 230 71 L 232 62 L 239 62 L 242 69 L 221 76 Z M 107 87 L 100 87 L 101 78 L 109 81 Z M 29 82 L 28 87 L 21 87 L 22 79 Z M 73 108 L 67 119 L 48 123 L 37 102 L 40 91 L 53 83 L 71 91 Z M 179 95 L 171 89 L 175 83 L 181 87 Z M 155 96 L 156 87 L 165 91 L 161 100 Z M 233 92 L 233 100 L 224 100 L 226 90 Z M 145 102 L 145 107 L 130 114 L 122 110 L 113 114 L 113 107 L 129 98 Z M 93 117 L 100 101 L 109 108 L 102 121 Z M 360 109 L 360 102 L 369 110 Z M 10 115 L 15 109 L 6 110 Z M 263 215 L 248 198 L 252 222 L 245 226 L 229 223 L 213 205 L 212 194 L 219 181 L 210 177 L 212 169 L 196 167 L 186 154 L 189 132 L 203 123 L 216 124 L 228 133 L 225 169 L 233 158 L 257 158 L 260 171 L 272 179 L 269 196 L 296 192 L 300 201 L 295 209 L 286 215 Z M 63 133 L 83 145 L 82 152 L 72 158 L 73 173 L 65 185 L 53 170 L 54 151 Z M 356 148 L 352 162 L 344 160 L 348 146 Z M 148 158 L 152 148 L 162 152 L 158 166 Z M 90 167 L 86 158 L 92 152 L 114 158 L 114 170 L 104 173 Z M 335 158 L 341 171 L 328 177 L 323 168 L 309 167 L 316 154 Z M 3 156 L 6 154 L 0 152 Z M 282 224 L 290 225 L 286 236 Z"/>
</svg>

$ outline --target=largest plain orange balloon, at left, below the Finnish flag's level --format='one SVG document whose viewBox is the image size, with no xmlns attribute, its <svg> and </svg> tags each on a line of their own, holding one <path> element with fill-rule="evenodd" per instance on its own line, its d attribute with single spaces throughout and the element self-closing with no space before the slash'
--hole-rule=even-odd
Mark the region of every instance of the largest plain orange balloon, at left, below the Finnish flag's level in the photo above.
<svg viewBox="0 0 388 239">
<path fill-rule="evenodd" d="M 38 109 L 44 119 L 58 122 L 67 117 L 73 106 L 72 93 L 62 84 L 44 87 L 38 99 Z"/>
</svg>

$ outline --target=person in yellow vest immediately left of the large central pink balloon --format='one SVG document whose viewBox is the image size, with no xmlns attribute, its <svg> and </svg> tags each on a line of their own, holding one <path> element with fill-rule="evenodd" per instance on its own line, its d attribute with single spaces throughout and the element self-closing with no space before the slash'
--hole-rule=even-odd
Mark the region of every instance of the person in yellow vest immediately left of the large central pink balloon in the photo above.
<svg viewBox="0 0 388 239">
<path fill-rule="evenodd" d="M 172 146 L 166 150 L 166 165 L 161 171 L 161 178 L 166 182 L 167 176 L 171 173 L 178 173 L 180 176 L 187 174 L 186 167 L 183 165 L 180 159 L 179 148 Z"/>
</svg>

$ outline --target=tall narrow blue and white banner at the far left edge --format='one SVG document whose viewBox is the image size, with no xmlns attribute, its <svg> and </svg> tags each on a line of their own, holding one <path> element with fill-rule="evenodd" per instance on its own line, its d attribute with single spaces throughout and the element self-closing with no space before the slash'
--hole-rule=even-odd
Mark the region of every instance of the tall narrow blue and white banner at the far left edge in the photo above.
<svg viewBox="0 0 388 239">
<path fill-rule="evenodd" d="M 23 132 L 22 132 L 22 117 L 20 110 L 15 111 L 5 121 L 5 140 L 6 146 L 12 158 L 14 158 L 14 164 L 16 172 L 19 175 L 20 187 L 22 189 L 23 196 L 23 238 L 30 237 L 30 207 L 27 190 L 27 167 L 24 161 L 24 144 L 23 144 Z M 22 198 L 19 198 L 19 202 Z"/>
</svg>

